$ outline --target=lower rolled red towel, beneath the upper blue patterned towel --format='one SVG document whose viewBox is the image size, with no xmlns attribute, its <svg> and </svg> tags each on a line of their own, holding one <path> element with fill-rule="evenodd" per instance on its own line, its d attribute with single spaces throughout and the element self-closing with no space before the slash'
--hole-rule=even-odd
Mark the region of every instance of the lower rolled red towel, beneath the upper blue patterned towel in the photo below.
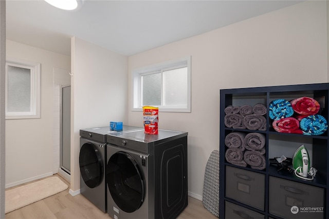
<svg viewBox="0 0 329 219">
<path fill-rule="evenodd" d="M 299 127 L 299 121 L 294 117 L 275 120 L 272 126 L 277 132 L 303 134 L 303 131 Z"/>
</svg>

